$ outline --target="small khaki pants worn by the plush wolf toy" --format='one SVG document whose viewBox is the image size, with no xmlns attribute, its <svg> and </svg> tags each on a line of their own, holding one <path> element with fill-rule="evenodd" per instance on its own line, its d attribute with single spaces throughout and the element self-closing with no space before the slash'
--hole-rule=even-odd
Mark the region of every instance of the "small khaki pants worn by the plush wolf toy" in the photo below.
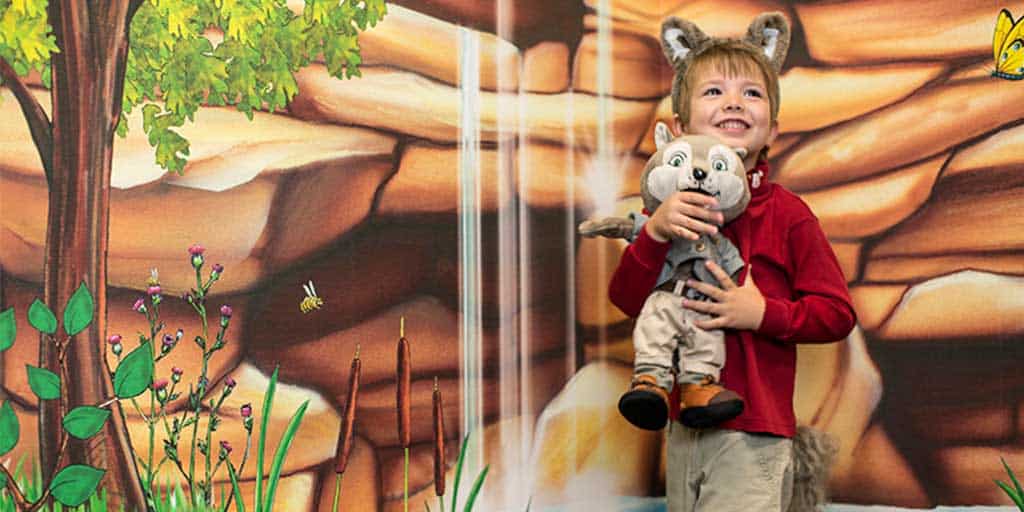
<svg viewBox="0 0 1024 512">
<path fill-rule="evenodd" d="M 652 375 L 665 389 L 676 384 L 673 374 L 710 375 L 718 381 L 725 364 L 725 333 L 720 329 L 705 331 L 693 325 L 694 321 L 711 317 L 684 308 L 679 295 L 660 290 L 651 292 L 633 329 L 633 374 Z M 673 368 L 677 350 L 678 367 Z"/>
</svg>

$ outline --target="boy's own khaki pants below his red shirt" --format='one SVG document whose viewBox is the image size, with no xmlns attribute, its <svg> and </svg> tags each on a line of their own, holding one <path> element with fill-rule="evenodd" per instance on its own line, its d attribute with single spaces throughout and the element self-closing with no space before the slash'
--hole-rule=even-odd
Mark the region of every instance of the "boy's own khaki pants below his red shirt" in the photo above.
<svg viewBox="0 0 1024 512">
<path fill-rule="evenodd" d="M 784 512 L 793 440 L 669 422 L 668 512 Z"/>
</svg>

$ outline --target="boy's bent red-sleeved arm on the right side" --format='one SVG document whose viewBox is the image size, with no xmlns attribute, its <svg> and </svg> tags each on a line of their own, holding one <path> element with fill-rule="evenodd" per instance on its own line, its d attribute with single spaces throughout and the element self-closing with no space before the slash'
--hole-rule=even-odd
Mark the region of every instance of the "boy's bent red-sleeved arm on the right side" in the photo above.
<svg viewBox="0 0 1024 512">
<path fill-rule="evenodd" d="M 796 300 L 765 297 L 759 334 L 792 343 L 830 343 L 857 322 L 846 279 L 814 218 L 790 231 L 791 275 Z"/>
</svg>

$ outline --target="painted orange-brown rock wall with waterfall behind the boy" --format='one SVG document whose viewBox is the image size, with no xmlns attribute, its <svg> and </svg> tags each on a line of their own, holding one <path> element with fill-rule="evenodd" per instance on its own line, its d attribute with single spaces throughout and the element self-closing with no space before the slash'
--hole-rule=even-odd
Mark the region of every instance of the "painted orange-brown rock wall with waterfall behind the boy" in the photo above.
<svg viewBox="0 0 1024 512">
<path fill-rule="evenodd" d="M 330 510 L 356 345 L 342 510 L 401 509 L 400 317 L 415 510 L 433 497 L 435 377 L 450 460 L 472 431 L 472 464 L 490 465 L 480 510 L 657 495 L 660 438 L 614 409 L 631 326 L 605 290 L 623 246 L 574 226 L 638 204 L 652 126 L 671 117 L 660 19 L 738 35 L 781 10 L 795 34 L 773 179 L 818 215 L 860 318 L 845 342 L 800 352 L 798 417 L 842 443 L 835 500 L 1009 504 L 992 478 L 999 456 L 1024 468 L 1024 84 L 989 77 L 999 8 L 1024 14 L 1021 1 L 389 4 L 359 38 L 361 78 L 312 66 L 287 112 L 252 122 L 201 110 L 183 130 L 182 175 L 154 164 L 141 116 L 129 120 L 115 142 L 109 332 L 144 329 L 130 305 L 151 267 L 165 322 L 195 331 L 173 298 L 189 286 L 186 248 L 202 243 L 224 265 L 211 300 L 233 306 L 236 331 L 212 380 L 239 382 L 237 411 L 281 365 L 278 432 L 311 399 L 275 510 Z M 0 94 L 0 300 L 24 310 L 41 295 L 46 181 L 16 101 Z M 325 306 L 302 314 L 309 280 Z M 2 365 L 22 419 L 14 459 L 35 453 L 37 407 L 23 369 L 38 340 L 18 332 Z M 177 350 L 158 374 L 198 364 Z M 221 435 L 241 445 L 237 430 Z"/>
</svg>

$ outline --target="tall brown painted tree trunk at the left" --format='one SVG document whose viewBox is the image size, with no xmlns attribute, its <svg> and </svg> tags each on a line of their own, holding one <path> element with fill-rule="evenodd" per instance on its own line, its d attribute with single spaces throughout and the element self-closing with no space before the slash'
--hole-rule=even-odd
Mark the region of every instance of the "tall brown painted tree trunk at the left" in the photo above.
<svg viewBox="0 0 1024 512">
<path fill-rule="evenodd" d="M 92 325 L 68 350 L 63 382 L 69 411 L 113 396 L 102 351 L 111 163 L 122 104 L 128 24 L 135 8 L 128 0 L 51 0 L 48 7 L 60 52 L 52 57 L 53 167 L 47 173 L 45 302 L 54 311 L 62 311 L 84 281 L 96 306 Z M 41 366 L 59 374 L 57 353 L 50 343 L 40 342 L 39 357 Z M 112 409 L 114 414 L 99 434 L 87 441 L 71 439 L 67 461 L 104 469 L 101 486 L 115 509 L 124 505 L 129 511 L 145 510 L 125 419 L 117 402 Z M 60 429 L 56 400 L 41 401 L 40 462 L 47 481 L 60 462 L 56 460 Z"/>
</svg>

